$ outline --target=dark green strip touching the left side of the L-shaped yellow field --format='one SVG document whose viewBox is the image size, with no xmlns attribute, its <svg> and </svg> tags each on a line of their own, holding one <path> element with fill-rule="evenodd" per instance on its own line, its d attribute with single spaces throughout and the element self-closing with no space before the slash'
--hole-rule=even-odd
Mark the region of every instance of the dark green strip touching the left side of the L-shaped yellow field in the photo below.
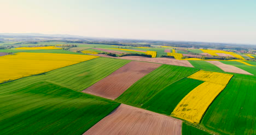
<svg viewBox="0 0 256 135">
<path fill-rule="evenodd" d="M 203 83 L 200 80 L 184 78 L 165 87 L 142 108 L 155 111 L 156 113 L 171 115 L 176 105 L 196 86 Z"/>
</svg>

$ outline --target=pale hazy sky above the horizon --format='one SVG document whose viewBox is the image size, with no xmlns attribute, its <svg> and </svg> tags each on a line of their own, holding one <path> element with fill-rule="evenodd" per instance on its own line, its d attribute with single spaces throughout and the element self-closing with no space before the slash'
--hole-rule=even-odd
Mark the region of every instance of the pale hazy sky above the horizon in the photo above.
<svg viewBox="0 0 256 135">
<path fill-rule="evenodd" d="M 256 44 L 256 1 L 0 0 L 0 33 Z"/>
</svg>

